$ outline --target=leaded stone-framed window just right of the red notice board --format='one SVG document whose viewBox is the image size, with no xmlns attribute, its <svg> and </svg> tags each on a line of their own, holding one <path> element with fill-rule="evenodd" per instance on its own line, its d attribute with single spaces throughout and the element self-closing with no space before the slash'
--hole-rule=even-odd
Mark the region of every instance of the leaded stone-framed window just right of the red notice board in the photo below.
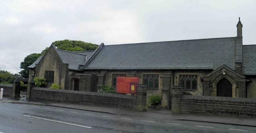
<svg viewBox="0 0 256 133">
<path fill-rule="evenodd" d="M 149 89 L 158 89 L 158 74 L 143 74 L 143 84 L 148 85 Z"/>
</svg>

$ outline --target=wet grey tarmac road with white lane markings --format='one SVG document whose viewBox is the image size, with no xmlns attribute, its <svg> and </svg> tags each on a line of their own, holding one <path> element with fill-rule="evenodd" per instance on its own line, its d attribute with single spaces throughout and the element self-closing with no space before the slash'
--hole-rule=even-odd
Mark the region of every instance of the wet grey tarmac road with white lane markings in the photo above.
<svg viewBox="0 0 256 133">
<path fill-rule="evenodd" d="M 150 114 L 150 113 L 148 113 Z M 151 113 L 157 115 L 158 113 Z M 0 133 L 255 133 L 256 127 L 0 103 Z"/>
</svg>

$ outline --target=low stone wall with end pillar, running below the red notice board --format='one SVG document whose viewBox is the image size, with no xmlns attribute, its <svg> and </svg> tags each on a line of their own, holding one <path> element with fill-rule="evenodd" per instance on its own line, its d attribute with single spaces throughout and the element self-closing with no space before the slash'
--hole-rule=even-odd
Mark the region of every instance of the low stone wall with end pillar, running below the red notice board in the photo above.
<svg viewBox="0 0 256 133">
<path fill-rule="evenodd" d="M 101 92 L 56 90 L 50 88 L 34 87 L 31 89 L 30 99 L 100 105 L 135 111 L 144 111 L 146 107 L 146 88 L 147 86 L 137 85 L 136 96 L 132 96 Z"/>
</svg>

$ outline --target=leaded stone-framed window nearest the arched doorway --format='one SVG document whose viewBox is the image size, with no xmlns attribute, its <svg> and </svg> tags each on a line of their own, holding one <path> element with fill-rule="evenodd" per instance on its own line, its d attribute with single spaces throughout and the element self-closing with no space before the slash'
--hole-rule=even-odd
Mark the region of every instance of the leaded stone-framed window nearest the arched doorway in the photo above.
<svg viewBox="0 0 256 133">
<path fill-rule="evenodd" d="M 179 85 L 186 90 L 197 90 L 197 75 L 179 75 Z"/>
</svg>

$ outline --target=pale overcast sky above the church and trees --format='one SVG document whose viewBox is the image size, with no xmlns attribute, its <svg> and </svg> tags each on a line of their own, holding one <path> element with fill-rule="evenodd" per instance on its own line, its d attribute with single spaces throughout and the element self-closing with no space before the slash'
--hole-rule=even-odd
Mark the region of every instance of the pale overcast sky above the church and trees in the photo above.
<svg viewBox="0 0 256 133">
<path fill-rule="evenodd" d="M 0 69 L 57 40 L 105 45 L 235 37 L 256 44 L 255 0 L 0 0 Z"/>
</svg>

